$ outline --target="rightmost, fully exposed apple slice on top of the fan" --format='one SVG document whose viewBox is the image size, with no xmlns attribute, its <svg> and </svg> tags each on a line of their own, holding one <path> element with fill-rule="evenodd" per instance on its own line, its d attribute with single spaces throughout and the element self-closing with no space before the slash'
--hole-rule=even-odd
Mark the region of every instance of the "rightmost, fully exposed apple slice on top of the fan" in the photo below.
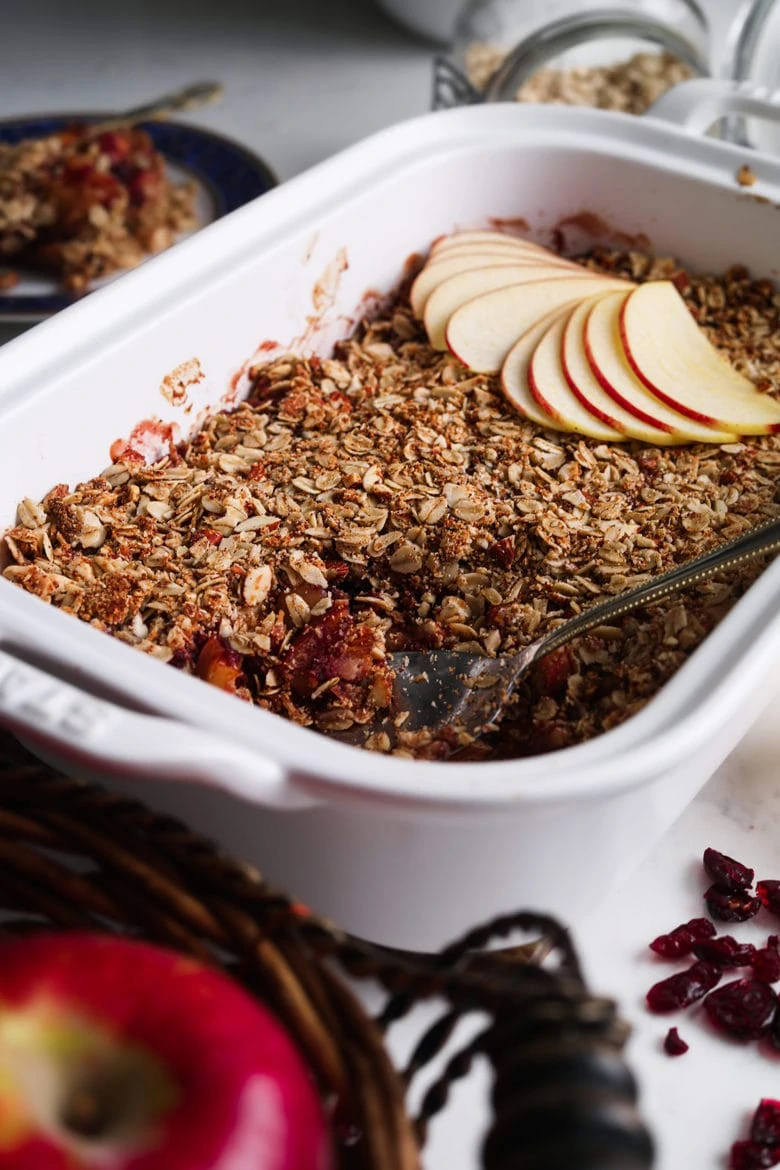
<svg viewBox="0 0 780 1170">
<path fill-rule="evenodd" d="M 621 305 L 619 328 L 629 366 L 667 406 L 739 434 L 780 431 L 780 402 L 718 353 L 671 281 L 640 285 Z"/>
</svg>

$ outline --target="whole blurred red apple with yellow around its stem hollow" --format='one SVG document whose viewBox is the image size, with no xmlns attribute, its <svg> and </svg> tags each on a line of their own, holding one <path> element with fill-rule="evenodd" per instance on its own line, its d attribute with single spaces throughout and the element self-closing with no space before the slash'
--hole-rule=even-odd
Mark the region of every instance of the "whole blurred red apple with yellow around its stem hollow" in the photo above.
<svg viewBox="0 0 780 1170">
<path fill-rule="evenodd" d="M 277 1020 L 226 976 L 104 935 L 0 944 L 0 1170 L 330 1170 Z"/>
</svg>

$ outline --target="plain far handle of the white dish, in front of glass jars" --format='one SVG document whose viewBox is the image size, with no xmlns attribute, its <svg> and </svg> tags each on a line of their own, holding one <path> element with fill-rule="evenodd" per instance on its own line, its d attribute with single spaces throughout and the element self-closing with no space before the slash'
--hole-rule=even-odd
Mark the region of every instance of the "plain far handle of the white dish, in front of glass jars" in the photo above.
<svg viewBox="0 0 780 1170">
<path fill-rule="evenodd" d="M 780 123 L 780 90 L 744 81 L 697 77 L 668 89 L 646 117 L 705 135 L 720 118 L 734 113 Z"/>
</svg>

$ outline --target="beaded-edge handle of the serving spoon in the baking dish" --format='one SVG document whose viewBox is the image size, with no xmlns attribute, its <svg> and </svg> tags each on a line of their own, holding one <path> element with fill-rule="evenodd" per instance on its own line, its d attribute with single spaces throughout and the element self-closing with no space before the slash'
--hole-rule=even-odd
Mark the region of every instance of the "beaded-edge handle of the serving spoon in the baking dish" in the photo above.
<svg viewBox="0 0 780 1170">
<path fill-rule="evenodd" d="M 722 544 L 711 552 L 705 552 L 696 560 L 689 560 L 662 573 L 661 577 L 654 577 L 646 585 L 640 585 L 627 593 L 619 593 L 608 601 L 600 601 L 585 613 L 564 622 L 558 629 L 533 644 L 533 654 L 526 659 L 524 668 L 610 618 L 620 618 L 624 613 L 661 601 L 664 597 L 670 597 L 688 585 L 706 580 L 726 569 L 734 569 L 737 565 L 747 564 L 758 557 L 778 551 L 780 551 L 780 519 L 774 519 L 751 529 L 729 544 Z"/>
</svg>

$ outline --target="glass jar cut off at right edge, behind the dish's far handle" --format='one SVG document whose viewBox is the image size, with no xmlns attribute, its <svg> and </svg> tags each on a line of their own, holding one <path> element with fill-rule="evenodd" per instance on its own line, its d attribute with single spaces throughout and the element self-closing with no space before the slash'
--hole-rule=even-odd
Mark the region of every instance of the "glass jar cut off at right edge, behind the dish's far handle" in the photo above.
<svg viewBox="0 0 780 1170">
<path fill-rule="evenodd" d="M 733 40 L 731 76 L 775 94 L 780 89 L 780 4 L 753 0 Z M 731 137 L 780 154 L 780 126 L 758 118 L 738 118 Z"/>
</svg>

